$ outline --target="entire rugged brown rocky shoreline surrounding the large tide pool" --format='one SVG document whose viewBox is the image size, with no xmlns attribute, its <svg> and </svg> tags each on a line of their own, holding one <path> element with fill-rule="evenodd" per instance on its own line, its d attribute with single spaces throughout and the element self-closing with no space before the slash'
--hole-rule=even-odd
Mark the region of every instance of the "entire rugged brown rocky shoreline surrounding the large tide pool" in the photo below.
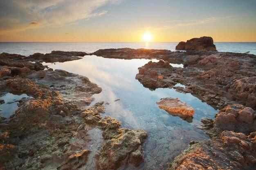
<svg viewBox="0 0 256 170">
<path fill-rule="evenodd" d="M 0 54 L 1 94 L 11 92 L 33 97 L 20 100 L 11 118 L 1 118 L 0 156 L 3 159 L 0 168 L 85 167 L 91 152 L 88 147 L 91 129 L 100 129 L 103 136 L 101 149 L 94 157 L 97 169 L 117 169 L 128 162 L 137 167 L 144 161 L 145 131 L 120 128 L 121 123 L 114 118 L 102 118 L 104 102 L 83 107 L 90 105 L 94 100 L 92 95 L 101 92 L 100 87 L 85 76 L 64 70 L 45 70 L 46 66 L 40 63 L 97 55 L 115 59 L 158 59 L 138 68 L 136 79 L 144 87 L 174 88 L 220 109 L 214 120 L 202 119 L 200 129 L 211 139 L 191 142 L 170 164 L 170 169 L 253 169 L 256 164 L 256 56 L 217 52 L 211 39 L 206 41 L 206 46 L 202 45 L 205 37 L 199 42 L 201 38 L 187 41 L 193 50 L 175 52 L 120 48 L 91 54 L 60 51 L 29 57 Z M 172 67 L 170 63 L 183 64 L 184 68 Z M 177 83 L 185 87 L 175 87 Z M 169 109 L 166 103 L 163 109 Z"/>
</svg>

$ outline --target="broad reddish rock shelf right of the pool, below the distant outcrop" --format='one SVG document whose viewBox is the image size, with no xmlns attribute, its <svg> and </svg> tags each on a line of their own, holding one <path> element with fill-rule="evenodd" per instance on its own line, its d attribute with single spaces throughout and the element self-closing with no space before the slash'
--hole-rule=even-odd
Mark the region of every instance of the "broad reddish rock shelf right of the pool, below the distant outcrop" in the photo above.
<svg viewBox="0 0 256 170">
<path fill-rule="evenodd" d="M 171 67 L 168 61 L 149 61 L 139 68 L 136 79 L 150 89 L 171 88 L 181 83 L 191 94 L 218 109 L 229 104 L 256 109 L 255 55 L 230 52 L 194 54 L 183 57 L 185 68 Z"/>
</svg>

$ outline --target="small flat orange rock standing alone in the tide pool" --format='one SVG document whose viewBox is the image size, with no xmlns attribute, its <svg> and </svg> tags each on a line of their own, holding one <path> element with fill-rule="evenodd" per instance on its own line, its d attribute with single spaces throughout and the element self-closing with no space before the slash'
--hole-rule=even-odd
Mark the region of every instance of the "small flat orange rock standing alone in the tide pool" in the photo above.
<svg viewBox="0 0 256 170">
<path fill-rule="evenodd" d="M 156 103 L 160 109 L 164 109 L 173 116 L 186 118 L 193 116 L 195 113 L 195 109 L 186 103 L 181 102 L 178 98 L 162 98 Z"/>
</svg>

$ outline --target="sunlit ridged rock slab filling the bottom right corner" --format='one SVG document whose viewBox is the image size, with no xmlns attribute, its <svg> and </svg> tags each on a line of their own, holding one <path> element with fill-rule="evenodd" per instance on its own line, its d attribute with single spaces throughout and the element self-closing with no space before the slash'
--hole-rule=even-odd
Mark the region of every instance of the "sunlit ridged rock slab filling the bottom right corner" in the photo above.
<svg viewBox="0 0 256 170">
<path fill-rule="evenodd" d="M 223 131 L 210 140 L 191 145 L 170 164 L 174 169 L 254 169 L 256 138 Z"/>
</svg>

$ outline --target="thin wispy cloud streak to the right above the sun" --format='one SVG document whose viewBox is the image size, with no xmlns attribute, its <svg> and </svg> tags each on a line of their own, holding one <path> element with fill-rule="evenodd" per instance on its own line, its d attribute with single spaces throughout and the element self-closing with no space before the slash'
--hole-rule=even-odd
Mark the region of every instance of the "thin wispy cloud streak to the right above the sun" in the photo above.
<svg viewBox="0 0 256 170">
<path fill-rule="evenodd" d="M 171 28 L 177 28 L 177 27 L 183 27 L 183 26 L 192 26 L 192 25 L 201 25 L 201 24 L 209 24 L 213 22 L 220 22 L 224 20 L 231 19 L 231 16 L 227 17 L 209 17 L 204 20 L 171 20 L 167 21 L 171 24 L 162 26 L 159 28 L 154 28 L 154 30 L 162 30 L 162 29 L 171 29 Z"/>
</svg>

